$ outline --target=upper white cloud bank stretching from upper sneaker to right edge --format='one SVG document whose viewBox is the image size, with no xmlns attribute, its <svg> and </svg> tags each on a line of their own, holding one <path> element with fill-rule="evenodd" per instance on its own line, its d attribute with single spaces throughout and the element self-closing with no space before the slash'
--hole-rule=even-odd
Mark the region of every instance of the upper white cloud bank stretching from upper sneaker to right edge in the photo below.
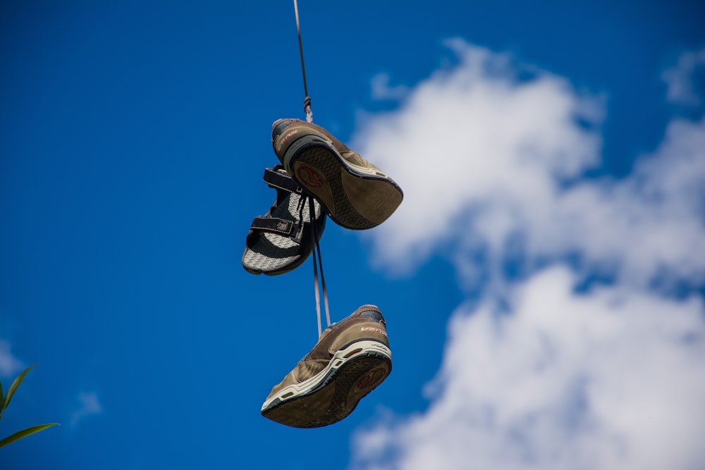
<svg viewBox="0 0 705 470">
<path fill-rule="evenodd" d="M 366 116 L 355 135 L 354 148 L 405 192 L 369 235 L 381 265 L 410 271 L 445 250 L 472 280 L 470 253 L 500 266 L 518 240 L 529 266 L 580 252 L 632 283 L 663 268 L 705 280 L 705 120 L 675 120 L 625 180 L 580 180 L 601 158 L 602 100 L 548 73 L 517 80 L 506 56 L 451 44 L 458 66 L 421 82 L 400 109 Z"/>
</svg>

